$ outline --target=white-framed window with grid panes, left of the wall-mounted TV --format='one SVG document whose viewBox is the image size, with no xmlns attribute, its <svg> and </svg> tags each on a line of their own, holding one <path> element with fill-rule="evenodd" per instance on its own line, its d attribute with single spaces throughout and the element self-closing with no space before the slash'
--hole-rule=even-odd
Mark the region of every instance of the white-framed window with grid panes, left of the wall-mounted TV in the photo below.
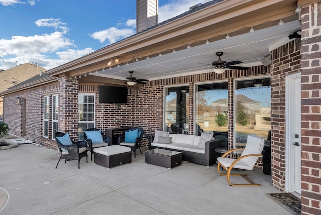
<svg viewBox="0 0 321 215">
<path fill-rule="evenodd" d="M 78 137 L 84 139 L 84 131 L 95 127 L 95 94 L 79 93 Z"/>
</svg>

